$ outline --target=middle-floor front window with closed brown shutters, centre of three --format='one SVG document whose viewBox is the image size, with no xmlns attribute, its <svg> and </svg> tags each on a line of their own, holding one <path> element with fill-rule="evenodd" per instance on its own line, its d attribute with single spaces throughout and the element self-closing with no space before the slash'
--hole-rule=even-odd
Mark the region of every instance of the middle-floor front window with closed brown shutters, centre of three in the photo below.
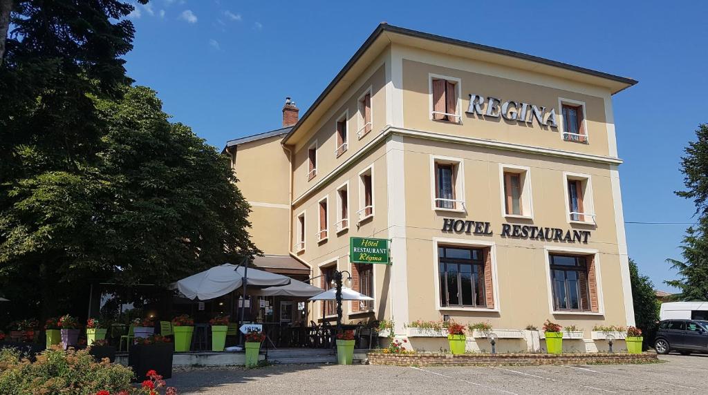
<svg viewBox="0 0 708 395">
<path fill-rule="evenodd" d="M 528 167 L 501 165 L 501 194 L 505 216 L 533 216 Z"/>
</svg>

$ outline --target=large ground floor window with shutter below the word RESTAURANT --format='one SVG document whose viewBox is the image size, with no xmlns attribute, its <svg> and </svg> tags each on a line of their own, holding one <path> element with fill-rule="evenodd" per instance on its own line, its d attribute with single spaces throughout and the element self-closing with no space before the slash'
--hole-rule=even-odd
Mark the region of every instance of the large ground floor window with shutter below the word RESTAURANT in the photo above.
<svg viewBox="0 0 708 395">
<path fill-rule="evenodd" d="M 552 254 L 549 258 L 554 309 L 556 311 L 592 310 L 589 276 L 589 266 L 592 259 L 558 254 Z"/>
</svg>

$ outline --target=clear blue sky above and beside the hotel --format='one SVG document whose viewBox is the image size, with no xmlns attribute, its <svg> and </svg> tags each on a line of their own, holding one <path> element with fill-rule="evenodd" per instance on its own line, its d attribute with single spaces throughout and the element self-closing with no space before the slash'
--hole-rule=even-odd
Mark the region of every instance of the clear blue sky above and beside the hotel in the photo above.
<svg viewBox="0 0 708 395">
<path fill-rule="evenodd" d="M 593 6 L 588 6 L 593 4 Z M 708 24 L 697 3 L 666 1 L 152 0 L 127 70 L 166 112 L 219 148 L 278 129 L 291 96 L 301 114 L 376 28 L 392 25 L 628 76 L 614 97 L 626 221 L 692 223 L 680 156 L 708 91 Z M 686 225 L 627 224 L 629 255 L 656 288 L 673 278 Z"/>
</svg>

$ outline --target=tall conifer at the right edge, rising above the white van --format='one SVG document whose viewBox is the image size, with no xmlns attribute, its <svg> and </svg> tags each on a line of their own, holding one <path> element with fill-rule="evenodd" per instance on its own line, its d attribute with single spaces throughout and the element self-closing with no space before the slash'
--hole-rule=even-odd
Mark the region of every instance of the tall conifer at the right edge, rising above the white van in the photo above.
<svg viewBox="0 0 708 395">
<path fill-rule="evenodd" d="M 681 158 L 686 189 L 675 194 L 693 200 L 698 220 L 683 237 L 683 261 L 666 260 L 680 278 L 665 283 L 679 288 L 683 300 L 708 300 L 708 124 L 698 126 L 696 137 Z"/>
</svg>

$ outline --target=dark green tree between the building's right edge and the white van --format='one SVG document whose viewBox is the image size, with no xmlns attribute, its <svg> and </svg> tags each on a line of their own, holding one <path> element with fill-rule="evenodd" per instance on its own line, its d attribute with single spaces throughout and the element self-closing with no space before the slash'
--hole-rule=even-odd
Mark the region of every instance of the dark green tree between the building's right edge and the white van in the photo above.
<svg viewBox="0 0 708 395">
<path fill-rule="evenodd" d="M 633 259 L 629 259 L 629 280 L 632 283 L 634 321 L 636 327 L 644 333 L 644 343 L 649 345 L 656 333 L 656 323 L 659 320 L 659 302 L 656 300 L 656 291 L 649 277 L 639 273 L 639 268 Z"/>
</svg>

